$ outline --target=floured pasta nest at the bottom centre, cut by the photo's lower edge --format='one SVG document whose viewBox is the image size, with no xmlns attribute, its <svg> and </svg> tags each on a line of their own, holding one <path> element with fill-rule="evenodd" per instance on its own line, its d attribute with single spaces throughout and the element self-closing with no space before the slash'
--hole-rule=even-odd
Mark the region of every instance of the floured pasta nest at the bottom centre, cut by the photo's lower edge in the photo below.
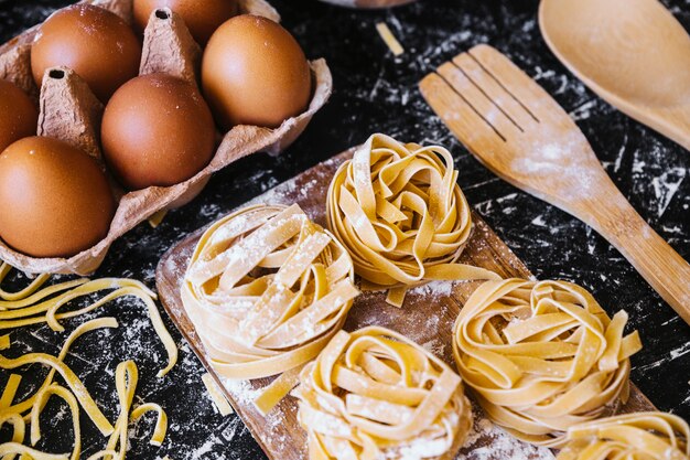
<svg viewBox="0 0 690 460">
<path fill-rule="evenodd" d="M 312 460 L 454 458 L 472 425 L 460 376 L 379 327 L 338 332 L 293 394 Z"/>
</svg>

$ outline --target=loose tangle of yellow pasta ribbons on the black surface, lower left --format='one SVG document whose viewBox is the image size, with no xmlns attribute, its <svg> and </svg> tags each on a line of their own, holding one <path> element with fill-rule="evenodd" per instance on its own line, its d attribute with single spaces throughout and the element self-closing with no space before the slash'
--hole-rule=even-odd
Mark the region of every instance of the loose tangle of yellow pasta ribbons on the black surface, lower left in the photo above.
<svg viewBox="0 0 690 460">
<path fill-rule="evenodd" d="M 7 264 L 0 266 L 0 282 L 3 281 L 10 269 L 11 267 Z M 45 322 L 51 329 L 63 331 L 64 328 L 60 324 L 58 320 L 90 312 L 123 296 L 133 296 L 142 300 L 147 306 L 154 330 L 168 352 L 168 365 L 159 372 L 159 376 L 164 375 L 174 366 L 177 360 L 176 345 L 165 329 L 153 301 L 155 295 L 143 284 L 129 279 L 107 278 L 94 281 L 76 279 L 52 285 L 39 290 L 48 279 L 48 275 L 42 275 L 18 292 L 7 292 L 0 289 L 0 330 Z M 107 289 L 114 290 L 86 307 L 74 311 L 58 312 L 60 309 L 77 298 L 90 296 Z M 151 443 L 160 446 L 163 442 L 168 428 L 168 417 L 164 410 L 159 405 L 152 403 L 143 404 L 131 410 L 131 402 L 138 379 L 137 366 L 133 362 L 121 363 L 116 372 L 116 386 L 120 399 L 121 414 L 115 427 L 110 425 L 103 413 L 100 413 L 98 406 L 79 378 L 63 363 L 72 343 L 80 335 L 100 328 L 117 327 L 117 321 L 114 318 L 99 318 L 80 324 L 68 335 L 57 357 L 44 353 L 29 353 L 14 360 L 0 356 L 0 368 L 17 368 L 32 363 L 40 363 L 51 367 L 48 375 L 39 391 L 25 400 L 14 405 L 12 405 L 12 403 L 21 376 L 18 374 L 10 375 L 2 395 L 0 396 L 0 426 L 2 426 L 2 424 L 11 424 L 14 431 L 12 442 L 6 442 L 0 446 L 0 458 L 3 460 L 13 460 L 17 454 L 20 454 L 21 460 L 67 459 L 65 454 L 45 453 L 21 445 L 24 438 L 25 420 L 31 421 L 32 445 L 35 445 L 41 439 L 40 416 L 47 399 L 52 395 L 64 399 L 72 411 L 75 440 L 74 449 L 69 457 L 71 460 L 77 460 L 80 456 L 79 405 L 82 405 L 89 418 L 91 418 L 94 424 L 105 436 L 110 435 L 108 448 L 90 456 L 89 459 L 125 459 L 127 450 L 127 425 L 130 420 L 130 411 L 132 420 L 140 418 L 145 413 L 155 411 L 158 414 L 158 421 L 151 438 Z M 10 336 L 1 335 L 0 350 L 9 347 Z M 61 374 L 67 383 L 67 386 L 74 393 L 53 383 L 56 372 Z M 119 451 L 116 451 L 118 446 Z"/>
</svg>

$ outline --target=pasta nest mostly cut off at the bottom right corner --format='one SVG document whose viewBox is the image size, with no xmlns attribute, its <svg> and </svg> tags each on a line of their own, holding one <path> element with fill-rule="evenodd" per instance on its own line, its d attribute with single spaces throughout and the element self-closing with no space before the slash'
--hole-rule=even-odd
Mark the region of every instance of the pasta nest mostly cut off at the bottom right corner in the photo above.
<svg viewBox="0 0 690 460">
<path fill-rule="evenodd" d="M 688 460 L 690 428 L 665 413 L 626 414 L 568 430 L 557 460 Z"/>
</svg>

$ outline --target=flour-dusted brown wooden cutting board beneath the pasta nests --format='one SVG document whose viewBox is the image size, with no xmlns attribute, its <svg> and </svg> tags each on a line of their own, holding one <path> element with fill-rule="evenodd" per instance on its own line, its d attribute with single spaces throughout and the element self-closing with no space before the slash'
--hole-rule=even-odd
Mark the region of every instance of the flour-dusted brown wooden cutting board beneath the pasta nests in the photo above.
<svg viewBox="0 0 690 460">
<path fill-rule="evenodd" d="M 331 178 L 337 167 L 351 157 L 352 150 L 341 153 L 247 204 L 299 203 L 310 217 L 325 226 L 325 200 Z M 473 213 L 473 220 L 474 234 L 463 253 L 462 263 L 488 268 L 504 278 L 531 277 L 527 267 L 476 213 Z M 270 379 L 238 382 L 216 375 L 184 311 L 180 285 L 204 229 L 193 233 L 162 257 L 157 269 L 157 287 L 163 307 L 268 457 L 272 460 L 306 459 L 305 434 L 297 421 L 297 399 L 289 396 L 268 416 L 259 414 L 251 403 L 252 396 Z M 390 328 L 424 345 L 455 367 L 451 345 L 453 322 L 478 285 L 478 282 L 434 281 L 408 292 L 402 309 L 388 306 L 384 293 L 365 293 L 355 300 L 345 329 L 352 331 L 369 324 Z M 630 399 L 623 408 L 624 411 L 653 409 L 651 403 L 636 387 L 633 387 Z M 474 415 L 474 429 L 459 458 L 476 460 L 553 458 L 548 449 L 537 449 L 520 442 L 495 427 L 476 405 Z"/>
</svg>

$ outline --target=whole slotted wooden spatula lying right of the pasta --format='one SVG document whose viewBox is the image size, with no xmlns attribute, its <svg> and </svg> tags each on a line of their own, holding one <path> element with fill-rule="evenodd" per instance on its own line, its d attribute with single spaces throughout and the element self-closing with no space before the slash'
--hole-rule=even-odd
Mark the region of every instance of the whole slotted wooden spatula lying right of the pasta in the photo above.
<svg viewBox="0 0 690 460">
<path fill-rule="evenodd" d="M 596 229 L 690 324 L 690 265 L 635 212 L 582 131 L 529 76 L 479 45 L 427 75 L 420 88 L 482 163 Z"/>
</svg>

